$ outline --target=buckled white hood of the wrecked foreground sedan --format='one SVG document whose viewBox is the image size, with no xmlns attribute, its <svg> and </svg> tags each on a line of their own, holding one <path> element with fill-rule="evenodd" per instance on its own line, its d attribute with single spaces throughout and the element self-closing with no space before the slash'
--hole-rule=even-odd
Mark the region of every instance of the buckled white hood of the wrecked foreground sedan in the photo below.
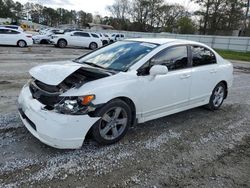
<svg viewBox="0 0 250 188">
<path fill-rule="evenodd" d="M 58 64 L 46 64 L 30 69 L 30 75 L 48 85 L 60 84 L 70 74 L 83 67 L 72 61 L 58 62 Z"/>
</svg>

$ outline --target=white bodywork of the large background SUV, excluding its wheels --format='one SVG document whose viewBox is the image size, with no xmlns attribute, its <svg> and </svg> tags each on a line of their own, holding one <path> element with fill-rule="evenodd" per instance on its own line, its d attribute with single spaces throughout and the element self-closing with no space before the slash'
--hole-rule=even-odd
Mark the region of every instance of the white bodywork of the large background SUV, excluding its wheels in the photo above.
<svg viewBox="0 0 250 188">
<path fill-rule="evenodd" d="M 80 36 L 79 34 L 86 34 L 88 36 Z M 97 44 L 98 48 L 102 47 L 101 38 L 95 38 L 91 33 L 83 31 L 72 31 L 62 35 L 53 35 L 50 41 L 52 44 L 58 44 L 58 41 L 62 39 L 67 42 L 67 46 L 89 48 L 90 44 L 94 42 Z"/>
</svg>

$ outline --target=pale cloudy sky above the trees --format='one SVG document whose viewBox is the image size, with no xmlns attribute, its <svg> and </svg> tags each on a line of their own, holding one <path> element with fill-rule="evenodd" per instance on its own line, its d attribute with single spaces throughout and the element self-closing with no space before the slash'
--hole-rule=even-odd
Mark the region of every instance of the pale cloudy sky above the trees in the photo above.
<svg viewBox="0 0 250 188">
<path fill-rule="evenodd" d="M 24 4 L 27 2 L 39 3 L 43 6 L 52 8 L 65 8 L 68 10 L 83 10 L 92 14 L 100 14 L 102 16 L 110 15 L 106 7 L 112 5 L 114 0 L 17 0 Z M 196 10 L 197 5 L 190 0 L 165 0 L 168 3 L 178 3 L 184 5 L 190 10 Z"/>
</svg>

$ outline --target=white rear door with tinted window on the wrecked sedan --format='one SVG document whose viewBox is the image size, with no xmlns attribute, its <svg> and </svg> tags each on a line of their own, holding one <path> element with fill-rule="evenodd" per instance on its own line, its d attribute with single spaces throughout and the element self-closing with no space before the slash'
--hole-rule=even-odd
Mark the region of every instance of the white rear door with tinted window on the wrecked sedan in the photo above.
<svg viewBox="0 0 250 188">
<path fill-rule="evenodd" d="M 202 103 L 209 99 L 218 83 L 218 64 L 214 53 L 203 46 L 190 46 L 192 53 L 192 84 L 190 103 Z"/>
</svg>

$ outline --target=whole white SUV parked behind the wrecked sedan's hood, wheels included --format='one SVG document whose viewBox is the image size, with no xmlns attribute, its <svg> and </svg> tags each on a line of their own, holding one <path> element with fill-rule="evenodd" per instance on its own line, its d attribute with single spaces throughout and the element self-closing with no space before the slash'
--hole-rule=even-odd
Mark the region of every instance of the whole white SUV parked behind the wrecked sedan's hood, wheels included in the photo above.
<svg viewBox="0 0 250 188">
<path fill-rule="evenodd" d="M 102 47 L 101 38 L 97 34 L 83 31 L 52 35 L 51 43 L 60 48 L 65 48 L 66 46 L 77 46 L 94 50 Z"/>
</svg>

